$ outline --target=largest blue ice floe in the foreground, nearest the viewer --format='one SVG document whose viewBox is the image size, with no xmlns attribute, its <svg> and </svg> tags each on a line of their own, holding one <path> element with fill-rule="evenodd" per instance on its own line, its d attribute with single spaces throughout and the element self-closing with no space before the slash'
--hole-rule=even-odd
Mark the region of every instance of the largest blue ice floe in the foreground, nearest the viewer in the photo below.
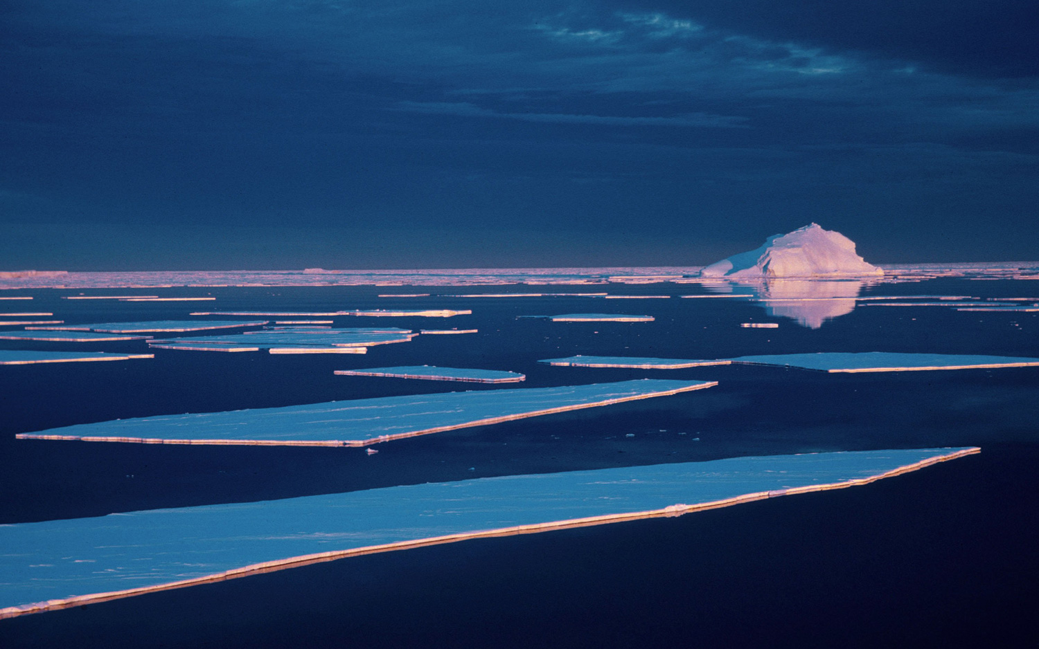
<svg viewBox="0 0 1039 649">
<path fill-rule="evenodd" d="M 730 458 L 0 525 L 0 618 L 351 556 L 864 485 L 978 451 Z"/>
</svg>

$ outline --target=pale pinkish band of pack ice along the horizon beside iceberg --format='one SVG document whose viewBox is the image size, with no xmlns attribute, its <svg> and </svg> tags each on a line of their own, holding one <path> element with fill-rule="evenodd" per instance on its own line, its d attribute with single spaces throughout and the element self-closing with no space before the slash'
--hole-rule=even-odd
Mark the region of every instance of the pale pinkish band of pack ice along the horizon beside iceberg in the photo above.
<svg viewBox="0 0 1039 649">
<path fill-rule="evenodd" d="M 869 283 L 932 277 L 1039 279 L 1039 261 L 951 264 L 878 264 L 883 277 Z M 718 283 L 700 277 L 702 266 L 603 268 L 457 268 L 395 270 L 194 270 L 194 271 L 0 271 L 4 289 L 106 289 L 171 287 L 336 287 L 336 286 L 553 286 L 607 283 Z M 745 280 L 744 280 L 745 282 Z"/>
</svg>

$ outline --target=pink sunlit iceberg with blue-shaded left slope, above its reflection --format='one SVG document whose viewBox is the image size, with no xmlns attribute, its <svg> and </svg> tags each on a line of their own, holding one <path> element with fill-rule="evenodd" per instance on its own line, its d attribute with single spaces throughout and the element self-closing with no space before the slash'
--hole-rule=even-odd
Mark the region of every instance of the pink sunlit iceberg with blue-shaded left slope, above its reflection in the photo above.
<svg viewBox="0 0 1039 649">
<path fill-rule="evenodd" d="M 855 242 L 811 223 L 773 235 L 762 247 L 705 267 L 703 277 L 867 277 L 884 271 L 855 253 Z"/>
</svg>

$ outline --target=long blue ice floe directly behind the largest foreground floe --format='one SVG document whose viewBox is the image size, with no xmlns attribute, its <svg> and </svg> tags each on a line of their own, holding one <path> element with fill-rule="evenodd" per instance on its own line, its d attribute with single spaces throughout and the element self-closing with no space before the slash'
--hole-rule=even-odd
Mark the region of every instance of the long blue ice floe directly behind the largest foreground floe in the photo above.
<svg viewBox="0 0 1039 649">
<path fill-rule="evenodd" d="M 717 381 L 641 379 L 562 387 L 381 397 L 117 420 L 21 433 L 17 437 L 144 443 L 365 447 L 457 428 L 666 397 L 717 384 Z"/>
</svg>

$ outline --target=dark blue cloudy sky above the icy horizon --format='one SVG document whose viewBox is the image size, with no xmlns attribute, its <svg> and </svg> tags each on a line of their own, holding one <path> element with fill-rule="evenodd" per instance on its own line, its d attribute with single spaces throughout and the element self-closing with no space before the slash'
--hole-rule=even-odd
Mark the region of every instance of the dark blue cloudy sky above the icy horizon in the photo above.
<svg viewBox="0 0 1039 649">
<path fill-rule="evenodd" d="M 0 270 L 1039 260 L 1034 0 L 0 0 Z"/>
</svg>

